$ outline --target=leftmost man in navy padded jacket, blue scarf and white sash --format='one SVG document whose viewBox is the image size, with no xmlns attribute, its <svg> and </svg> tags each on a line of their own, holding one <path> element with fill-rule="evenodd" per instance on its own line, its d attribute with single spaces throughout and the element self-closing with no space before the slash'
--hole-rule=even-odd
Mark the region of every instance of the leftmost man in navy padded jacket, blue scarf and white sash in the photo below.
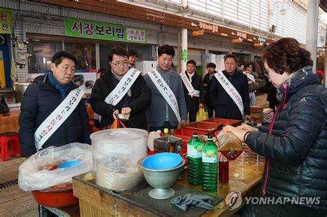
<svg viewBox="0 0 327 217">
<path fill-rule="evenodd" d="M 19 116 L 23 156 L 41 147 L 91 143 L 83 90 L 72 83 L 76 63 L 69 52 L 57 52 L 52 57 L 52 72 L 38 76 L 26 89 Z"/>
</svg>

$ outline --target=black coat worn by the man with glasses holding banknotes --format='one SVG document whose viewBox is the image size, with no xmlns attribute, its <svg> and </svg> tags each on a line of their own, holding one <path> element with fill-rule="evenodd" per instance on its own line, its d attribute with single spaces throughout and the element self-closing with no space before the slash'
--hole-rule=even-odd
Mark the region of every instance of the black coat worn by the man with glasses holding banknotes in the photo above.
<svg viewBox="0 0 327 217">
<path fill-rule="evenodd" d="M 112 117 L 114 110 L 119 110 L 119 112 L 121 112 L 121 107 L 119 107 L 118 104 L 114 106 L 104 101 L 115 87 L 116 85 L 114 85 L 112 81 L 112 72 L 109 68 L 101 75 L 100 79 L 95 82 L 95 86 L 92 88 L 90 104 L 92 110 L 101 115 L 101 127 L 107 127 L 112 124 L 114 121 Z M 145 112 L 151 104 L 151 90 L 141 74 L 132 84 L 130 90 L 132 96 L 130 96 L 128 107 L 131 108 L 132 112 L 130 113 L 130 122 L 128 122 L 128 125 L 133 128 L 148 130 Z"/>
</svg>

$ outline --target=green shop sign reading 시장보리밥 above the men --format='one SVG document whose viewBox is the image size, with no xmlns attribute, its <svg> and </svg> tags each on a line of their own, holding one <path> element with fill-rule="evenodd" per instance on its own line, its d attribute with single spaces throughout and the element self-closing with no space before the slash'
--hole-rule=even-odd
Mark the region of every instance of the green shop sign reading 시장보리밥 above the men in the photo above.
<svg viewBox="0 0 327 217">
<path fill-rule="evenodd" d="M 148 43 L 146 30 L 111 23 L 66 18 L 65 30 L 69 37 Z"/>
</svg>

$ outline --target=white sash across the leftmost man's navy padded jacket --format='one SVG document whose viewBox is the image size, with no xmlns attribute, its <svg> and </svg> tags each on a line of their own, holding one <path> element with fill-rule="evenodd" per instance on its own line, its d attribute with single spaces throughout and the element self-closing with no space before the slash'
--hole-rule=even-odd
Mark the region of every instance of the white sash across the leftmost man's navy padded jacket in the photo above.
<svg viewBox="0 0 327 217">
<path fill-rule="evenodd" d="M 66 121 L 75 110 L 84 94 L 84 90 L 77 88 L 70 91 L 68 96 L 58 107 L 37 127 L 34 133 L 35 147 L 39 150 L 50 136 Z"/>
</svg>

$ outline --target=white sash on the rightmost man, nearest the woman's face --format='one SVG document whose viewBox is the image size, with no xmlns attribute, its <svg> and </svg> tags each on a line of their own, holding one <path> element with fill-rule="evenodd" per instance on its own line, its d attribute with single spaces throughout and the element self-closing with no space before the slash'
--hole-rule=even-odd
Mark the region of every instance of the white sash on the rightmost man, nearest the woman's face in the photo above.
<svg viewBox="0 0 327 217">
<path fill-rule="evenodd" d="M 239 107 L 239 111 L 241 112 L 242 116 L 244 116 L 243 100 L 241 98 L 241 95 L 239 95 L 239 92 L 237 92 L 232 83 L 228 81 L 223 72 L 220 71 L 215 73 L 215 77 L 219 81 L 220 85 L 224 88 L 224 90 L 226 90 L 228 95 L 232 97 L 234 103 L 237 105 L 237 107 Z"/>
</svg>

